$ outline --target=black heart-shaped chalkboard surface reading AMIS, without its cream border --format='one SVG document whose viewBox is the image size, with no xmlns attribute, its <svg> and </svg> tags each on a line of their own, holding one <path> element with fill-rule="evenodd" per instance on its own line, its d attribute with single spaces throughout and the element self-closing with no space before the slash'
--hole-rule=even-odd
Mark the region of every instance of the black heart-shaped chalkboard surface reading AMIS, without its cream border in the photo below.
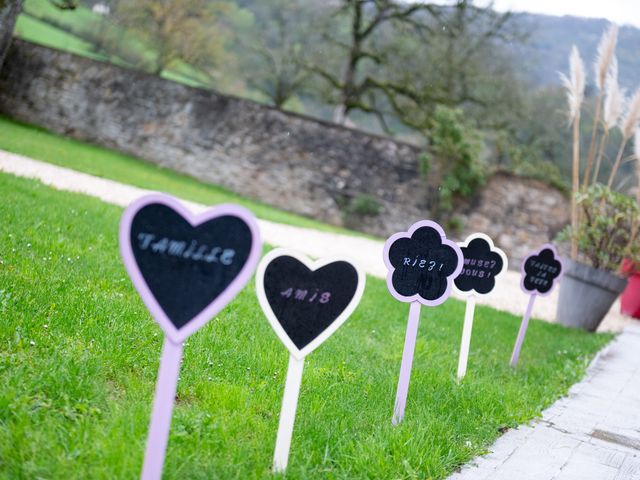
<svg viewBox="0 0 640 480">
<path fill-rule="evenodd" d="M 262 288 L 273 316 L 295 347 L 303 350 L 352 303 L 359 281 L 358 271 L 349 262 L 334 261 L 311 270 L 284 254 L 264 268 Z"/>
</svg>

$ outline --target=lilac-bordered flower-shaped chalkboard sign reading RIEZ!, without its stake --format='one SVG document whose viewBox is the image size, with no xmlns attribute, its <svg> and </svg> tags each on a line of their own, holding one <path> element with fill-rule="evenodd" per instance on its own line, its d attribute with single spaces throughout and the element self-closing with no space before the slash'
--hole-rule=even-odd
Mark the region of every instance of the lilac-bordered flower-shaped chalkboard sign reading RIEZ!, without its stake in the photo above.
<svg viewBox="0 0 640 480">
<path fill-rule="evenodd" d="M 462 270 L 462 261 L 460 247 L 431 220 L 414 223 L 408 232 L 392 235 L 384 245 L 387 287 L 402 302 L 443 303 Z"/>
</svg>

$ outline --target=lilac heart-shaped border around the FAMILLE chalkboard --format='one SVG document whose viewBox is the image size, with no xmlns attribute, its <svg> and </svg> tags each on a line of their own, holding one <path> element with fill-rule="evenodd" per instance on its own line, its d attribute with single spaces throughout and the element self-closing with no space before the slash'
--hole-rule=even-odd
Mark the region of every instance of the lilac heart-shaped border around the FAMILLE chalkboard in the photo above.
<svg viewBox="0 0 640 480">
<path fill-rule="evenodd" d="M 224 215 L 233 215 L 242 219 L 251 231 L 251 250 L 249 251 L 249 256 L 247 257 L 247 260 L 240 270 L 238 276 L 233 279 L 229 286 L 227 286 L 227 288 L 220 295 L 218 295 L 199 314 L 189 320 L 180 329 L 177 329 L 173 325 L 173 323 L 171 323 L 171 320 L 169 320 L 169 317 L 167 317 L 167 314 L 164 312 L 156 298 L 153 296 L 153 293 L 151 293 L 147 282 L 145 281 L 142 273 L 140 272 L 140 269 L 138 268 L 138 264 L 136 263 L 135 257 L 133 256 L 133 250 L 131 248 L 131 223 L 134 216 L 143 207 L 154 203 L 159 203 L 175 210 L 192 227 L 197 227 L 204 222 Z M 144 197 L 135 200 L 126 208 L 124 214 L 122 215 L 122 219 L 120 220 L 120 230 L 118 233 L 118 237 L 120 241 L 120 254 L 122 256 L 124 266 L 129 273 L 129 276 L 131 277 L 133 285 L 136 287 L 136 290 L 138 290 L 142 301 L 149 309 L 149 312 L 151 312 L 154 320 L 158 323 L 158 325 L 160 325 L 160 328 L 162 328 L 167 338 L 175 344 L 184 342 L 187 337 L 204 326 L 231 300 L 233 300 L 238 292 L 240 292 L 240 290 L 242 290 L 242 288 L 251 279 L 251 276 L 253 275 L 253 272 L 258 264 L 258 260 L 260 259 L 260 253 L 262 251 L 262 240 L 260 238 L 258 223 L 253 214 L 246 208 L 232 204 L 221 204 L 216 205 L 215 207 L 210 208 L 200 214 L 194 214 L 174 197 L 161 193 L 145 195 Z"/>
</svg>

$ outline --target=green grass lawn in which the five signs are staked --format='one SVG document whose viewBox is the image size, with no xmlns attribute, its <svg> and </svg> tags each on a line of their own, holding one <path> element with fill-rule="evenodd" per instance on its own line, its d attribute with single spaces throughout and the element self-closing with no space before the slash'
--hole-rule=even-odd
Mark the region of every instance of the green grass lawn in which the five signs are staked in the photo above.
<svg viewBox="0 0 640 480">
<path fill-rule="evenodd" d="M 0 195 L 0 477 L 136 478 L 162 335 L 120 261 L 122 210 L 6 174 Z M 611 339 L 533 321 L 513 370 L 520 319 L 479 306 L 458 384 L 463 313 L 423 309 L 392 427 L 408 306 L 368 278 L 307 359 L 287 478 L 444 478 L 566 393 Z M 286 367 L 250 284 L 185 346 L 165 478 L 272 478 Z"/>
</svg>

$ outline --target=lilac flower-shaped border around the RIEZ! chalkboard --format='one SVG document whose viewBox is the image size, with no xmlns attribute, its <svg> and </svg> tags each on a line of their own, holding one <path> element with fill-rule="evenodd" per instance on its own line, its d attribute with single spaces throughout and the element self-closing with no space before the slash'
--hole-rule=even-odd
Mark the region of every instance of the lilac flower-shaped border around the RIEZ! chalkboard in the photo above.
<svg viewBox="0 0 640 480">
<path fill-rule="evenodd" d="M 426 300 L 424 298 L 422 298 L 418 293 L 410 296 L 410 297 L 405 297 L 404 295 L 399 294 L 396 289 L 393 287 L 393 272 L 395 271 L 395 267 L 393 265 L 391 265 L 391 262 L 389 261 L 389 249 L 391 248 L 391 245 L 393 244 L 393 242 L 395 242 L 396 240 L 400 239 L 400 238 L 411 238 L 411 235 L 413 235 L 413 232 L 415 232 L 417 229 L 421 228 L 421 227 L 431 227 L 435 230 L 438 231 L 438 233 L 440 234 L 440 237 L 442 238 L 442 243 L 443 245 L 448 245 L 451 248 L 453 248 L 454 252 L 456 252 L 456 255 L 458 256 L 458 266 L 456 267 L 456 269 L 454 270 L 454 272 L 451 275 L 447 276 L 447 289 L 445 290 L 445 292 L 438 297 L 435 300 Z M 419 222 L 414 223 L 413 225 L 411 225 L 411 227 L 409 228 L 408 231 L 406 232 L 398 232 L 398 233 L 394 233 L 393 235 L 391 235 L 387 241 L 384 243 L 384 249 L 382 251 L 382 257 L 384 259 L 384 264 L 386 265 L 388 272 L 387 272 L 387 288 L 389 289 L 389 292 L 391 292 L 391 295 L 393 295 L 393 297 L 396 300 L 399 300 L 401 302 L 419 302 L 422 305 L 426 305 L 428 307 L 435 307 L 437 305 L 440 305 L 442 303 L 444 303 L 447 298 L 449 298 L 449 295 L 451 295 L 451 290 L 453 289 L 453 280 L 460 275 L 460 272 L 462 271 L 462 267 L 463 267 L 463 262 L 464 262 L 464 258 L 462 256 L 462 250 L 460 250 L 460 247 L 458 246 L 457 243 L 455 243 L 452 240 L 447 239 L 446 234 L 444 233 L 443 228 L 438 225 L 436 222 L 434 222 L 433 220 L 420 220 Z"/>
</svg>

